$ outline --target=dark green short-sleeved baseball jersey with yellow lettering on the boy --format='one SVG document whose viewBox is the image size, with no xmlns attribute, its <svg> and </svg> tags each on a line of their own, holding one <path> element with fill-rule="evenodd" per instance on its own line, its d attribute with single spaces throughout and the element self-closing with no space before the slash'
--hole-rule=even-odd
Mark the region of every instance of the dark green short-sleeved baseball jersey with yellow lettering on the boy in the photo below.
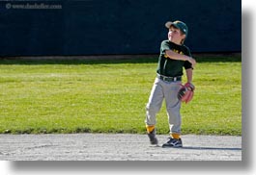
<svg viewBox="0 0 256 175">
<path fill-rule="evenodd" d="M 177 61 L 167 57 L 166 50 L 172 50 L 176 53 L 191 57 L 190 50 L 185 45 L 177 45 L 169 40 L 163 40 L 160 47 L 160 55 L 158 60 L 157 73 L 167 77 L 182 76 L 183 67 L 185 69 L 192 68 L 192 64 L 187 61 Z"/>
</svg>

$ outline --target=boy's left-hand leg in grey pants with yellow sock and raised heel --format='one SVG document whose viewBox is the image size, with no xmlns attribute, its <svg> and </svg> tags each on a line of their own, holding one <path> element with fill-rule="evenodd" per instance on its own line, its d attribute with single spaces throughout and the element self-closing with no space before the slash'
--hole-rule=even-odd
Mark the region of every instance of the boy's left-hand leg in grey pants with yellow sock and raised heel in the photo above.
<svg viewBox="0 0 256 175">
<path fill-rule="evenodd" d="M 163 100 L 162 87 L 160 81 L 156 78 L 151 91 L 149 103 L 146 106 L 146 129 L 148 137 L 152 144 L 157 144 L 156 139 L 156 113 L 159 112 Z"/>
</svg>

